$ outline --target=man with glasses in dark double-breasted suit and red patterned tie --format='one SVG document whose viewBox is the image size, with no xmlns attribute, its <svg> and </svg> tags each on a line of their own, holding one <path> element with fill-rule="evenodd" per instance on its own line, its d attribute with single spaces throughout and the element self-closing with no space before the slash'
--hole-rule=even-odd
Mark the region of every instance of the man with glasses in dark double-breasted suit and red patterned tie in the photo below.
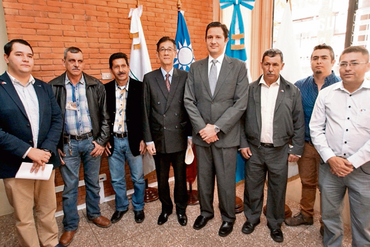
<svg viewBox="0 0 370 247">
<path fill-rule="evenodd" d="M 159 200 L 162 203 L 158 225 L 168 220 L 173 209 L 168 185 L 172 163 L 177 220 L 181 226 L 186 226 L 188 190 L 185 150 L 188 145 L 192 145 L 191 125 L 184 107 L 188 72 L 174 68 L 175 55 L 175 40 L 162 37 L 157 43 L 157 57 L 161 67 L 145 74 L 143 80 L 143 128 L 147 150 L 154 157 Z"/>
</svg>

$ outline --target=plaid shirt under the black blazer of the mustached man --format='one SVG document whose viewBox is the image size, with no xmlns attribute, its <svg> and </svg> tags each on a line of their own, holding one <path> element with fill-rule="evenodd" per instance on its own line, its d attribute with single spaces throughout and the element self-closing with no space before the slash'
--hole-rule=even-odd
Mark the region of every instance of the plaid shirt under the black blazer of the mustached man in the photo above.
<svg viewBox="0 0 370 247">
<path fill-rule="evenodd" d="M 114 133 L 124 133 L 127 132 L 127 123 L 126 123 L 126 105 L 127 105 L 127 94 L 128 94 L 128 83 L 130 82 L 130 77 L 128 77 L 127 84 L 123 87 L 118 86 L 116 81 L 116 114 L 114 118 L 114 126 L 113 132 Z M 121 91 L 125 91 L 121 94 Z M 120 111 L 120 107 L 122 111 Z"/>
</svg>

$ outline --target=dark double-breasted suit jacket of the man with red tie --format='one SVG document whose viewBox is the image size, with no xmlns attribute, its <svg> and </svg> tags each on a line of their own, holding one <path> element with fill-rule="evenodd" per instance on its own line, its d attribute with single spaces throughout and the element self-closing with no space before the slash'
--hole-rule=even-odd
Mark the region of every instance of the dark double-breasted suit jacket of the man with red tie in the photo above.
<svg viewBox="0 0 370 247">
<path fill-rule="evenodd" d="M 142 92 L 144 141 L 154 141 L 159 153 L 185 150 L 191 124 L 184 106 L 188 72 L 174 68 L 170 91 L 161 68 L 145 74 Z"/>
</svg>

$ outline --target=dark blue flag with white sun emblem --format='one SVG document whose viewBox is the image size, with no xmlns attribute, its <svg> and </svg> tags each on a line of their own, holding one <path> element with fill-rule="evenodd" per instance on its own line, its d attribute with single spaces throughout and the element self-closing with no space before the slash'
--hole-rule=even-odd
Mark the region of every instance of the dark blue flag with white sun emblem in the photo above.
<svg viewBox="0 0 370 247">
<path fill-rule="evenodd" d="M 177 17 L 177 32 L 176 32 L 176 46 L 177 54 L 174 60 L 174 67 L 189 71 L 190 64 L 195 62 L 193 48 L 188 31 L 188 26 L 183 16 L 183 11 L 178 11 Z"/>
</svg>

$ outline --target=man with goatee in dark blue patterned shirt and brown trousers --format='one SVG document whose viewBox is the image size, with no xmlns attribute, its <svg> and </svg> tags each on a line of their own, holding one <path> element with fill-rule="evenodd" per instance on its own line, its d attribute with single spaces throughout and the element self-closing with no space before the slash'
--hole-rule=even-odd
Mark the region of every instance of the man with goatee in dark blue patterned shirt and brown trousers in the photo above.
<svg viewBox="0 0 370 247">
<path fill-rule="evenodd" d="M 313 224 L 313 206 L 316 199 L 316 187 L 321 158 L 313 147 L 309 123 L 319 91 L 341 81 L 341 79 L 334 74 L 334 71 L 332 71 L 334 63 L 334 51 L 332 47 L 326 44 L 315 46 L 311 55 L 311 69 L 313 75 L 295 83 L 302 94 L 303 112 L 305 114 L 305 147 L 302 157 L 297 161 L 299 176 L 302 182 L 301 210 L 294 217 L 285 220 L 288 226 Z M 320 223 L 320 233 L 323 234 L 323 223 L 321 218 Z"/>
</svg>

